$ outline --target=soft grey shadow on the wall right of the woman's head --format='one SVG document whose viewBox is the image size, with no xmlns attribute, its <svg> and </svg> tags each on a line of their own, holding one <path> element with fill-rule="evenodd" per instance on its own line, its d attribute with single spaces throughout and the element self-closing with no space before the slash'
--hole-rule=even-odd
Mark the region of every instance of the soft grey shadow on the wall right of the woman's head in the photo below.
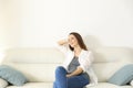
<svg viewBox="0 0 133 88">
<path fill-rule="evenodd" d="M 89 50 L 95 50 L 98 47 L 102 47 L 100 40 L 94 35 L 86 35 L 84 37 L 84 43 L 86 44 Z"/>
</svg>

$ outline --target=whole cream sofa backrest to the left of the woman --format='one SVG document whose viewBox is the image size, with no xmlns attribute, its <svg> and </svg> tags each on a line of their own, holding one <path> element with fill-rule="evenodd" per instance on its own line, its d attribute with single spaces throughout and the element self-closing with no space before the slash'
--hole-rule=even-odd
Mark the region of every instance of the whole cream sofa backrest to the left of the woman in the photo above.
<svg viewBox="0 0 133 88">
<path fill-rule="evenodd" d="M 2 64 L 20 70 L 29 81 L 53 81 L 55 67 L 63 59 L 63 54 L 52 47 L 10 48 L 7 50 Z"/>
</svg>

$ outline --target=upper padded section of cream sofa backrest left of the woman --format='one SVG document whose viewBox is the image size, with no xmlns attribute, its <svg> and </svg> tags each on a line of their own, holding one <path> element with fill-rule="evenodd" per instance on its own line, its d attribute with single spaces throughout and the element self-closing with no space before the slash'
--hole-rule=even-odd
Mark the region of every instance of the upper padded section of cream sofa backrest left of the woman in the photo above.
<svg viewBox="0 0 133 88">
<path fill-rule="evenodd" d="M 62 63 L 63 54 L 57 48 L 11 48 L 7 50 L 4 62 L 27 64 Z"/>
</svg>

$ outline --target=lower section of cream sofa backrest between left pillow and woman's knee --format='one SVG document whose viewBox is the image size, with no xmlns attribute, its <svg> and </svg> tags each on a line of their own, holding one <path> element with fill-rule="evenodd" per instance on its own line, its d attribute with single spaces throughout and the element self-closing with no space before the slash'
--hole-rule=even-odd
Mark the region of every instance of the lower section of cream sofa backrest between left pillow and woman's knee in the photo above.
<svg viewBox="0 0 133 88">
<path fill-rule="evenodd" d="M 53 81 L 58 64 L 8 64 L 23 73 L 29 81 Z"/>
</svg>

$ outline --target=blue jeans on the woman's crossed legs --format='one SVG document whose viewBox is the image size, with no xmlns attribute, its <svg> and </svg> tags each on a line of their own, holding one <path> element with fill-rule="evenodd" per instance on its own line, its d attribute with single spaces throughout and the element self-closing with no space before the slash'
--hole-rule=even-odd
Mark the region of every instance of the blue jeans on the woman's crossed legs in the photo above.
<svg viewBox="0 0 133 88">
<path fill-rule="evenodd" d="M 83 88 L 89 84 L 89 79 L 83 75 L 66 77 L 66 74 L 62 66 L 57 67 L 53 88 Z"/>
</svg>

